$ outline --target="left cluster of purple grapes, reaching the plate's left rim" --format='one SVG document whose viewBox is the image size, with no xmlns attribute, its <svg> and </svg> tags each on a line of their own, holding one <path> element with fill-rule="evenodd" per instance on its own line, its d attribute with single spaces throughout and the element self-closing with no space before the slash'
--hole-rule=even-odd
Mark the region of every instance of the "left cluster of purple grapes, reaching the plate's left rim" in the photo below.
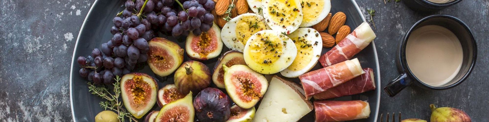
<svg viewBox="0 0 489 122">
<path fill-rule="evenodd" d="M 78 57 L 77 61 L 82 66 L 80 76 L 95 84 L 109 85 L 114 82 L 115 76 L 128 74 L 136 63 L 146 62 L 148 41 L 154 37 L 154 31 L 148 20 L 137 16 L 142 4 L 144 1 L 137 0 L 134 4 L 128 0 L 125 3 L 128 9 L 122 11 L 122 16 L 112 20 L 112 39 L 102 43 L 100 49 L 93 49 L 91 56 Z M 142 11 L 153 11 L 153 7 L 153 1 L 149 0 Z"/>
</svg>

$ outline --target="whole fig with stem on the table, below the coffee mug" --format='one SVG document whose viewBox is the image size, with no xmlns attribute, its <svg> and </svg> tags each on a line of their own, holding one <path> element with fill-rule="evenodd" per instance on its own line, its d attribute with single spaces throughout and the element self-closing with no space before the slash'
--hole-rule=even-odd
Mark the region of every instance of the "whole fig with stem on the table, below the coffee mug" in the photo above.
<svg viewBox="0 0 489 122">
<path fill-rule="evenodd" d="M 432 111 L 430 122 L 472 122 L 462 110 L 451 107 L 436 108 L 434 104 L 430 104 L 429 107 Z"/>
</svg>

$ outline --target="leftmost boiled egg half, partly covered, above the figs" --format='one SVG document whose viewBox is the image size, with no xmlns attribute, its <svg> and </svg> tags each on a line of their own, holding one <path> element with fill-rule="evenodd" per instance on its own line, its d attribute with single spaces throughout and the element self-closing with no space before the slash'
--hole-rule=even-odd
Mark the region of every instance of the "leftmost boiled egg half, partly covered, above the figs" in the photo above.
<svg viewBox="0 0 489 122">
<path fill-rule="evenodd" d="M 221 40 L 229 49 L 243 52 L 246 41 L 256 32 L 266 29 L 262 16 L 245 13 L 226 22 L 222 27 Z"/>
</svg>

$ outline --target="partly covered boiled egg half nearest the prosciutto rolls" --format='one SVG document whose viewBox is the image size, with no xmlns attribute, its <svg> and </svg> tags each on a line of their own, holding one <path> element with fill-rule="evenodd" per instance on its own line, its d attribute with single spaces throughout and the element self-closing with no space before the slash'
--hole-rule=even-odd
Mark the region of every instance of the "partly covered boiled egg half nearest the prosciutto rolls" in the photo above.
<svg viewBox="0 0 489 122">
<path fill-rule="evenodd" d="M 308 27 L 299 28 L 287 36 L 294 42 L 297 56 L 280 74 L 288 78 L 296 78 L 316 65 L 323 49 L 323 41 L 319 32 Z"/>
</svg>

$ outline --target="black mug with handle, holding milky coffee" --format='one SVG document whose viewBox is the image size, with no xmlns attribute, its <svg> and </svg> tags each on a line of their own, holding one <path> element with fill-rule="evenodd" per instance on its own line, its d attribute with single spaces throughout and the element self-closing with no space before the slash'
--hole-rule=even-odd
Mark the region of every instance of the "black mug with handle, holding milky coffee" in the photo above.
<svg viewBox="0 0 489 122">
<path fill-rule="evenodd" d="M 416 78 L 406 61 L 406 43 L 409 36 L 414 30 L 425 25 L 439 25 L 447 28 L 457 36 L 462 45 L 463 60 L 459 72 L 451 81 L 439 87 L 428 85 Z M 445 90 L 459 85 L 467 79 L 474 68 L 477 58 L 477 44 L 472 31 L 462 20 L 450 15 L 432 15 L 419 20 L 409 29 L 406 36 L 404 36 L 404 40 L 400 43 L 397 57 L 396 61 L 398 61 L 398 69 L 400 69 L 401 75 L 384 87 L 384 91 L 387 92 L 389 97 L 394 97 L 411 83 L 433 90 Z"/>
</svg>

